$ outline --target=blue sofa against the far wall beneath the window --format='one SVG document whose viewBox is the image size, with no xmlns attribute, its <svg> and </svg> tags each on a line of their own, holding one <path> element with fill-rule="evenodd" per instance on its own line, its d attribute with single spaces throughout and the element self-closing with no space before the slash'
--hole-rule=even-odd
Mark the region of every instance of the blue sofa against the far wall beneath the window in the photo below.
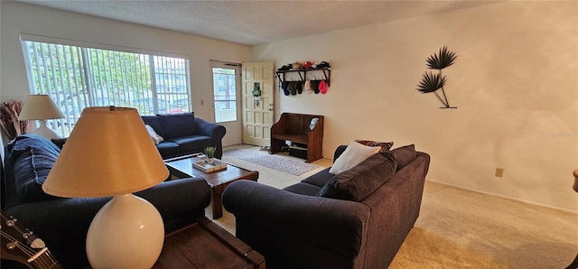
<svg viewBox="0 0 578 269">
<path fill-rule="evenodd" d="M 202 153 L 208 146 L 217 147 L 215 158 L 220 159 L 223 155 L 222 139 L 227 132 L 223 125 L 195 117 L 194 112 L 142 118 L 144 125 L 150 125 L 162 137 L 163 141 L 156 147 L 163 159 Z"/>
</svg>

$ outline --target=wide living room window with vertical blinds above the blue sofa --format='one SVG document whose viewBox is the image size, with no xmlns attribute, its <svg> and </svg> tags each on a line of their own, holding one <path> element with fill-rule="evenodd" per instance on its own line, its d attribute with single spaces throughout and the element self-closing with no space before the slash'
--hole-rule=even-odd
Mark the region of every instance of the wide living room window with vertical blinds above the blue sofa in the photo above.
<svg viewBox="0 0 578 269">
<path fill-rule="evenodd" d="M 64 136 L 84 107 L 135 107 L 141 115 L 192 111 L 188 59 L 23 34 L 21 41 L 30 91 L 61 107 L 66 117 L 48 124 Z"/>
</svg>

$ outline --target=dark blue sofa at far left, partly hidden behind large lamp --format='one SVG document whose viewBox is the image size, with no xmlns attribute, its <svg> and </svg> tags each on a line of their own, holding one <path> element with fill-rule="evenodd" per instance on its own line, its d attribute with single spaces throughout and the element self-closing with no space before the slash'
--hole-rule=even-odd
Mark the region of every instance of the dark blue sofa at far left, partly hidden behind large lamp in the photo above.
<svg viewBox="0 0 578 269">
<path fill-rule="evenodd" d="M 87 268 L 89 226 L 110 197 L 59 198 L 44 193 L 42 183 L 60 153 L 61 147 L 39 135 L 19 135 L 7 144 L 0 181 L 2 209 L 42 238 L 64 268 Z M 210 204 L 209 185 L 201 178 L 163 181 L 135 195 L 159 210 L 166 233 L 191 225 Z M 1 266 L 14 265 L 3 260 Z"/>
</svg>

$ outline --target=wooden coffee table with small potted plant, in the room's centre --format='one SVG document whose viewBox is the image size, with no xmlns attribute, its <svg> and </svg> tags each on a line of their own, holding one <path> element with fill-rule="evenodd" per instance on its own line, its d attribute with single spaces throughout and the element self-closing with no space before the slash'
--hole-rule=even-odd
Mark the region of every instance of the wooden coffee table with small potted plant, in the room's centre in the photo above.
<svg viewBox="0 0 578 269">
<path fill-rule="evenodd" d="M 192 166 L 192 162 L 198 162 L 200 160 L 204 160 L 204 158 L 198 157 L 197 154 L 192 154 L 168 159 L 165 160 L 164 163 L 169 169 L 169 172 L 171 172 L 171 175 L 179 179 L 200 177 L 207 181 L 212 192 L 213 219 L 221 218 L 223 217 L 223 190 L 233 181 L 256 181 L 259 178 L 259 172 L 248 171 L 231 163 L 227 163 L 227 170 L 202 172 Z"/>
</svg>

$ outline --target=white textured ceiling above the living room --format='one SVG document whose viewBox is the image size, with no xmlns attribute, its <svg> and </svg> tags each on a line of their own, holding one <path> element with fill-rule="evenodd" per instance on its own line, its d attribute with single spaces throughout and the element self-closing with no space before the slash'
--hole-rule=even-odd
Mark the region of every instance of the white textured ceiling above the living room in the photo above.
<svg viewBox="0 0 578 269">
<path fill-rule="evenodd" d="M 18 0 L 80 14 L 256 45 L 495 1 Z"/>
</svg>

